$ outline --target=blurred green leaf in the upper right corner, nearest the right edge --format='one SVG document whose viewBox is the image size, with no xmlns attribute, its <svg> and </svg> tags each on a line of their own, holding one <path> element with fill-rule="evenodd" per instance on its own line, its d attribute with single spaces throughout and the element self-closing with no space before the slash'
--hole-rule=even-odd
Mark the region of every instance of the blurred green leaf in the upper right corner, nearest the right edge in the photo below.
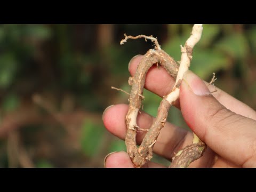
<svg viewBox="0 0 256 192">
<path fill-rule="evenodd" d="M 244 34 L 226 36 L 217 42 L 214 48 L 227 53 L 235 59 L 244 59 L 249 52 L 249 45 Z"/>
</svg>

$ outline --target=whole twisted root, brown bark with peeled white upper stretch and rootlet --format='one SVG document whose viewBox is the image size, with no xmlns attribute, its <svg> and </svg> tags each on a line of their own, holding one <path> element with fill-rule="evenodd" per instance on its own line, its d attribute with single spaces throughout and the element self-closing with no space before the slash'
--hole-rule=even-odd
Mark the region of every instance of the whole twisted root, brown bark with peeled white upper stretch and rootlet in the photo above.
<svg viewBox="0 0 256 192">
<path fill-rule="evenodd" d="M 135 167 L 143 166 L 153 157 L 153 147 L 161 129 L 165 125 L 170 107 L 179 98 L 179 90 L 183 74 L 188 70 L 190 66 L 193 48 L 201 38 L 202 30 L 202 24 L 194 25 L 191 36 L 188 38 L 185 46 L 181 46 L 182 54 L 179 67 L 169 54 L 161 50 L 157 39 L 152 36 L 138 35 L 133 37 L 125 35 L 125 39 L 121 41 L 121 44 L 123 44 L 129 38 L 146 38 L 151 39 L 151 41 L 155 42 L 156 45 L 155 50 L 149 50 L 144 55 L 137 67 L 134 77 L 130 77 L 128 81 L 129 85 L 132 87 L 129 99 L 129 109 L 125 121 L 127 126 L 125 144 L 127 147 L 127 153 L 131 157 Z M 160 103 L 155 121 L 146 133 L 145 138 L 143 138 L 141 145 L 139 148 L 137 148 L 136 133 L 138 130 L 141 130 L 137 125 L 137 116 L 141 108 L 142 99 L 144 99 L 142 94 L 145 85 L 146 74 L 149 68 L 154 64 L 161 65 L 163 68 L 165 68 L 167 73 L 169 73 L 175 79 L 175 84 L 172 91 L 166 95 Z M 191 162 L 195 161 L 203 155 L 206 148 L 205 144 L 200 141 L 195 134 L 194 138 L 196 142 L 193 141 L 192 145 L 187 146 L 181 150 L 173 158 L 173 162 L 170 167 L 188 167 Z"/>
</svg>

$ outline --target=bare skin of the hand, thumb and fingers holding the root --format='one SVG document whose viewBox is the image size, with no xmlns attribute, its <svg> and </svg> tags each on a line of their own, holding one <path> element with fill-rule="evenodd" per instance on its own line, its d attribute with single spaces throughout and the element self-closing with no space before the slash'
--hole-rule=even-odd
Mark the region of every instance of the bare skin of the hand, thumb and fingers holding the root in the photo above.
<svg viewBox="0 0 256 192">
<path fill-rule="evenodd" d="M 142 55 L 132 58 L 129 71 L 133 76 Z M 163 68 L 151 67 L 145 88 L 160 97 L 168 94 L 174 79 Z M 207 86 L 199 77 L 188 71 L 180 86 L 180 99 L 175 103 L 190 129 L 206 143 L 204 156 L 189 167 L 256 167 L 256 112 L 241 101 L 213 86 Z M 109 107 L 103 113 L 106 129 L 124 140 L 126 134 L 125 115 L 128 105 Z M 138 115 L 137 122 L 142 129 L 149 129 L 154 117 L 144 113 Z M 138 132 L 140 145 L 145 132 Z M 191 132 L 166 122 L 157 142 L 154 153 L 171 159 L 174 153 L 191 144 Z M 126 152 L 108 155 L 105 167 L 131 167 L 133 164 Z M 144 167 L 164 167 L 148 162 Z"/>
</svg>

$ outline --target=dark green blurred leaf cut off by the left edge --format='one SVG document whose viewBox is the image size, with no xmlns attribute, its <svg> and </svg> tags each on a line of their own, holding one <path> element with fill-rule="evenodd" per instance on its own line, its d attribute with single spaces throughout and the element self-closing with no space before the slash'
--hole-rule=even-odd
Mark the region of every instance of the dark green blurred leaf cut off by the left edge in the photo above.
<svg viewBox="0 0 256 192">
<path fill-rule="evenodd" d="M 0 55 L 0 88 L 7 88 L 14 80 L 17 61 L 11 53 Z"/>
</svg>

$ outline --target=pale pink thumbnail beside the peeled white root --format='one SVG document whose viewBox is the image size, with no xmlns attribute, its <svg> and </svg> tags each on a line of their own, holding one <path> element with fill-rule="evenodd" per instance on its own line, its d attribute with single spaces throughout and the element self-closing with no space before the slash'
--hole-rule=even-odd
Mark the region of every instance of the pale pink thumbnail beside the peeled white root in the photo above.
<svg viewBox="0 0 256 192">
<path fill-rule="evenodd" d="M 205 83 L 195 75 L 192 71 L 188 70 L 183 75 L 183 81 L 190 87 L 190 89 L 199 96 L 210 95 L 211 92 Z"/>
</svg>

